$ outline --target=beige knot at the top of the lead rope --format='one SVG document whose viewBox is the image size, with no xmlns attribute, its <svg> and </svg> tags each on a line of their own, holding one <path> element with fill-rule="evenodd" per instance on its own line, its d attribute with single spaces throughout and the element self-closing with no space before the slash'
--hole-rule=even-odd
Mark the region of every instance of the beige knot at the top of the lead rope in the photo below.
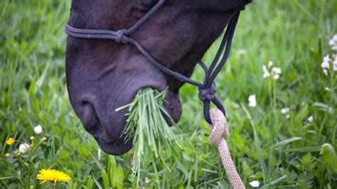
<svg viewBox="0 0 337 189">
<path fill-rule="evenodd" d="M 209 141 L 212 146 L 218 146 L 222 139 L 227 140 L 229 136 L 227 120 L 219 109 L 210 109 L 210 120 L 213 124 L 208 124 L 211 132 Z"/>
</svg>

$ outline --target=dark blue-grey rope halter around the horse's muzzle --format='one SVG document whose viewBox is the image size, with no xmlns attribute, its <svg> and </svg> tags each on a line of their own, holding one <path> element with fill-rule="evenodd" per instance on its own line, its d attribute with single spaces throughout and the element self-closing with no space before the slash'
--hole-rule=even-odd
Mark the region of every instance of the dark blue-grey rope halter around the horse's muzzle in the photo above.
<svg viewBox="0 0 337 189">
<path fill-rule="evenodd" d="M 230 53 L 230 48 L 232 46 L 232 38 L 234 35 L 235 27 L 237 24 L 237 20 L 240 16 L 240 10 L 237 9 L 234 15 L 230 19 L 228 26 L 225 31 L 225 35 L 223 36 L 223 41 L 221 41 L 218 52 L 215 55 L 213 63 L 210 65 L 210 68 L 207 68 L 205 63 L 201 60 L 199 62 L 200 66 L 205 71 L 205 79 L 203 82 L 198 82 L 195 80 L 191 80 L 185 75 L 181 75 L 181 73 L 174 72 L 169 68 L 166 68 L 164 65 L 161 65 L 144 47 L 139 43 L 136 39 L 131 38 L 129 35 L 134 33 L 142 23 L 147 21 L 147 19 L 152 16 L 165 2 L 166 0 L 159 0 L 159 2 L 148 12 L 146 13 L 137 23 L 134 24 L 129 29 L 120 29 L 118 31 L 109 31 L 109 30 L 92 30 L 92 29 L 80 29 L 74 28 L 66 23 L 65 25 L 65 33 L 68 36 L 72 36 L 74 38 L 96 38 L 96 39 L 106 39 L 106 40 L 114 40 L 117 43 L 132 43 L 146 58 L 149 59 L 151 63 L 153 63 L 156 68 L 159 68 L 162 72 L 175 77 L 177 80 L 181 82 L 188 82 L 191 85 L 195 85 L 198 87 L 199 95 L 201 101 L 203 101 L 203 115 L 205 120 L 212 124 L 210 121 L 210 102 L 213 102 L 218 109 L 220 109 L 223 114 L 225 114 L 225 109 L 223 104 L 215 97 L 216 87 L 215 87 L 215 77 L 219 74 L 220 70 L 225 65 L 228 60 L 228 55 Z M 223 54 L 223 58 L 220 60 L 220 56 Z M 220 62 L 219 62 L 220 60 Z M 218 63 L 219 62 L 219 63 Z M 218 64 L 217 67 L 215 67 Z"/>
</svg>

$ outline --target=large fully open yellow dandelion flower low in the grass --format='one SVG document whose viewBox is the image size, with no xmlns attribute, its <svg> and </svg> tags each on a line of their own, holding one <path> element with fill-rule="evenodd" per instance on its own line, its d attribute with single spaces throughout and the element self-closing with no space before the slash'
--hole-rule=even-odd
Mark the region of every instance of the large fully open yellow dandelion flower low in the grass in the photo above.
<svg viewBox="0 0 337 189">
<path fill-rule="evenodd" d="M 53 181 L 54 185 L 56 182 L 68 182 L 71 179 L 69 175 L 55 169 L 42 169 L 36 178 L 42 180 L 41 183 L 46 183 L 48 180 Z"/>
</svg>

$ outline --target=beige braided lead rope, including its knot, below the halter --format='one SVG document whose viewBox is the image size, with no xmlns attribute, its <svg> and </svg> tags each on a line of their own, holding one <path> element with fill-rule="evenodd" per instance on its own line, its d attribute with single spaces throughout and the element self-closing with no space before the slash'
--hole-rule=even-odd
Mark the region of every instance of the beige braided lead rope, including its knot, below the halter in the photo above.
<svg viewBox="0 0 337 189">
<path fill-rule="evenodd" d="M 229 136 L 228 124 L 223 112 L 219 109 L 210 109 L 210 120 L 213 123 L 208 124 L 211 132 L 209 137 L 210 145 L 218 147 L 223 166 L 228 178 L 230 178 L 232 187 L 235 189 L 245 188 L 230 156 L 230 150 L 226 142 Z"/>
</svg>

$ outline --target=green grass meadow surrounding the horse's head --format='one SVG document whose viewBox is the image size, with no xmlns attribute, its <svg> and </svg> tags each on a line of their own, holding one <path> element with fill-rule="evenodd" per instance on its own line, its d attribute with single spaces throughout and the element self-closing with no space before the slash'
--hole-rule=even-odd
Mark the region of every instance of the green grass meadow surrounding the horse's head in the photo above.
<svg viewBox="0 0 337 189">
<path fill-rule="evenodd" d="M 47 187 L 36 180 L 42 168 L 70 175 L 58 188 L 136 186 L 132 157 L 101 152 L 70 107 L 63 32 L 69 10 L 70 1 L 0 1 L 0 188 Z M 328 45 L 336 29 L 334 0 L 254 0 L 242 12 L 216 82 L 228 112 L 228 145 L 248 188 L 252 180 L 260 188 L 337 188 L 336 71 L 331 64 L 324 75 L 321 68 L 325 55 L 337 54 Z M 217 44 L 205 55 L 207 63 Z M 269 61 L 282 70 L 278 80 L 262 77 Z M 203 79 L 200 68 L 193 79 Z M 141 170 L 141 186 L 229 187 L 218 151 L 208 144 L 197 92 L 191 85 L 181 89 L 183 149 L 164 157 L 169 168 L 154 160 L 156 170 Z M 248 104 L 253 94 L 256 107 Z M 38 124 L 40 135 L 33 131 Z M 35 143 L 47 140 L 35 153 L 16 157 L 20 141 L 30 144 L 31 136 Z M 11 146 L 9 137 L 16 139 Z"/>
</svg>

